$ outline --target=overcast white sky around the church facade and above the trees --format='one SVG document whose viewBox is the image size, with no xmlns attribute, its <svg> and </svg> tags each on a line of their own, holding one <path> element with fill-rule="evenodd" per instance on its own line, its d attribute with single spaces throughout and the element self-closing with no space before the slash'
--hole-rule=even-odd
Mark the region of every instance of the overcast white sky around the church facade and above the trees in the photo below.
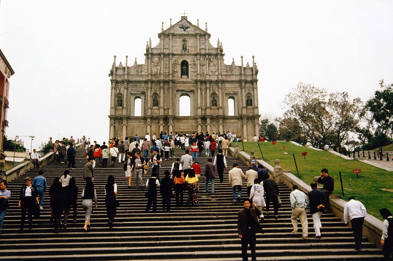
<svg viewBox="0 0 393 261">
<path fill-rule="evenodd" d="M 225 62 L 259 69 L 259 112 L 281 115 L 299 81 L 362 101 L 393 82 L 392 1 L 0 1 L 0 48 L 10 79 L 9 138 L 50 136 L 101 143 L 109 132 L 109 70 L 144 62 L 149 37 L 180 20 L 208 22 Z M 25 144 L 30 144 L 30 138 Z"/>
</svg>

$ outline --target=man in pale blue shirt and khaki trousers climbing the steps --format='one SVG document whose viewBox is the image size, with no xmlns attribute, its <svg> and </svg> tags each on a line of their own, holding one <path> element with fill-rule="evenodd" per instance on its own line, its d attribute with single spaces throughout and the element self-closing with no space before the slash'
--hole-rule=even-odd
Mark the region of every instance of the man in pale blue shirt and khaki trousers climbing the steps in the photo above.
<svg viewBox="0 0 393 261">
<path fill-rule="evenodd" d="M 309 201 L 307 200 L 307 196 L 303 191 L 299 190 L 299 187 L 294 185 L 292 186 L 292 191 L 289 195 L 292 207 L 292 226 L 294 230 L 292 233 L 298 233 L 298 218 L 301 222 L 301 229 L 303 231 L 303 235 L 301 238 L 306 239 L 309 236 L 309 223 L 307 221 L 306 210 L 309 207 Z"/>
</svg>

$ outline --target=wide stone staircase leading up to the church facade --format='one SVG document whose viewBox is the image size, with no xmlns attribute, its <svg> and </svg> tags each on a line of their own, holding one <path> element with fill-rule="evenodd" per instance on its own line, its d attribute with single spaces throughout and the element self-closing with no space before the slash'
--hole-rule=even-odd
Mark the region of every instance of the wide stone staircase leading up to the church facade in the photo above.
<svg viewBox="0 0 393 261">
<path fill-rule="evenodd" d="M 175 154 L 180 158 L 184 152 L 176 148 Z M 70 175 L 76 178 L 79 186 L 79 196 L 84 187 L 83 167 L 86 160 L 83 156 L 84 151 L 77 151 L 76 169 L 70 170 Z M 170 170 L 174 160 L 170 158 L 163 161 L 160 176 L 163 176 L 166 169 Z M 203 173 L 207 162 L 204 153 L 198 158 L 198 162 Z M 93 211 L 88 233 L 82 231 L 84 211 L 81 208 L 81 200 L 78 200 L 77 224 L 69 223 L 67 229 L 61 229 L 58 234 L 53 233 L 54 229 L 49 222 L 48 189 L 44 195 L 44 210 L 41 211 L 40 219 L 33 221 L 31 230 L 25 228 L 24 232 L 19 231 L 18 195 L 24 178 L 37 176 L 38 170 L 33 169 L 8 184 L 11 199 L 0 235 L 2 260 L 241 260 L 237 212 L 242 209 L 242 204 L 233 204 L 231 187 L 228 185 L 228 171 L 235 162 L 243 172 L 248 169 L 238 158 L 229 156 L 228 169 L 224 171 L 224 183 L 220 184 L 216 178 L 213 197 L 204 192 L 205 179 L 202 174 L 198 204 L 193 207 L 184 205 L 176 208 L 172 202 L 170 213 L 161 211 L 160 195 L 158 212 L 145 212 L 145 190 L 136 188 L 134 177 L 131 188 L 128 188 L 122 164 L 116 163 L 116 167 L 106 169 L 97 164 L 94 169 L 94 184 L 98 208 Z M 66 167 L 66 164 L 51 162 L 43 168 L 48 188 L 55 177 L 62 175 Z M 143 180 L 146 181 L 150 174 L 149 169 Z M 115 176 L 121 204 L 112 229 L 108 228 L 104 202 L 104 185 L 108 175 Z M 290 189 L 284 184 L 279 184 L 279 189 L 283 201 L 279 209 L 279 219 L 274 219 L 272 214 L 265 215 L 265 233 L 257 234 L 257 259 L 382 260 L 381 250 L 368 243 L 366 238 L 362 244 L 364 251 L 354 250 L 351 229 L 332 214 L 322 215 L 322 239 L 313 238 L 311 215 L 308 215 L 310 238 L 301 239 L 301 233 L 290 233 Z M 246 181 L 243 182 L 243 193 L 246 196 Z"/>
</svg>

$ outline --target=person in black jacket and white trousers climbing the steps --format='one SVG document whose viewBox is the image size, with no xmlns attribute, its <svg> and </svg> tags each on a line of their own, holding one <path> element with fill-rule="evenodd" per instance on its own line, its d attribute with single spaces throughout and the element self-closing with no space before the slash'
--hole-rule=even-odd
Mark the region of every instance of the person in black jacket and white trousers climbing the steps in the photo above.
<svg viewBox="0 0 393 261">
<path fill-rule="evenodd" d="M 309 192 L 309 200 L 310 200 L 310 213 L 312 215 L 312 222 L 314 222 L 314 231 L 315 237 L 321 239 L 321 214 L 324 210 L 324 206 L 326 205 L 326 197 L 323 191 L 317 189 L 317 184 L 312 182 L 310 184 L 311 191 Z"/>
</svg>

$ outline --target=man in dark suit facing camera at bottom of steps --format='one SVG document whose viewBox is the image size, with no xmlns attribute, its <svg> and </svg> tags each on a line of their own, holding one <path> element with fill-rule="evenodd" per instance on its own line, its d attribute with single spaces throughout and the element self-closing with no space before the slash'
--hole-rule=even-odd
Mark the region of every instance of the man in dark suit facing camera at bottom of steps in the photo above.
<svg viewBox="0 0 393 261">
<path fill-rule="evenodd" d="M 263 233 L 261 224 L 259 224 L 258 217 L 261 211 L 258 208 L 250 208 L 250 200 L 243 201 L 244 209 L 237 213 L 237 230 L 239 238 L 242 240 L 242 259 L 247 261 L 247 246 L 250 245 L 251 260 L 256 261 L 255 253 L 256 233 Z M 255 204 L 252 204 L 255 207 Z"/>
</svg>

